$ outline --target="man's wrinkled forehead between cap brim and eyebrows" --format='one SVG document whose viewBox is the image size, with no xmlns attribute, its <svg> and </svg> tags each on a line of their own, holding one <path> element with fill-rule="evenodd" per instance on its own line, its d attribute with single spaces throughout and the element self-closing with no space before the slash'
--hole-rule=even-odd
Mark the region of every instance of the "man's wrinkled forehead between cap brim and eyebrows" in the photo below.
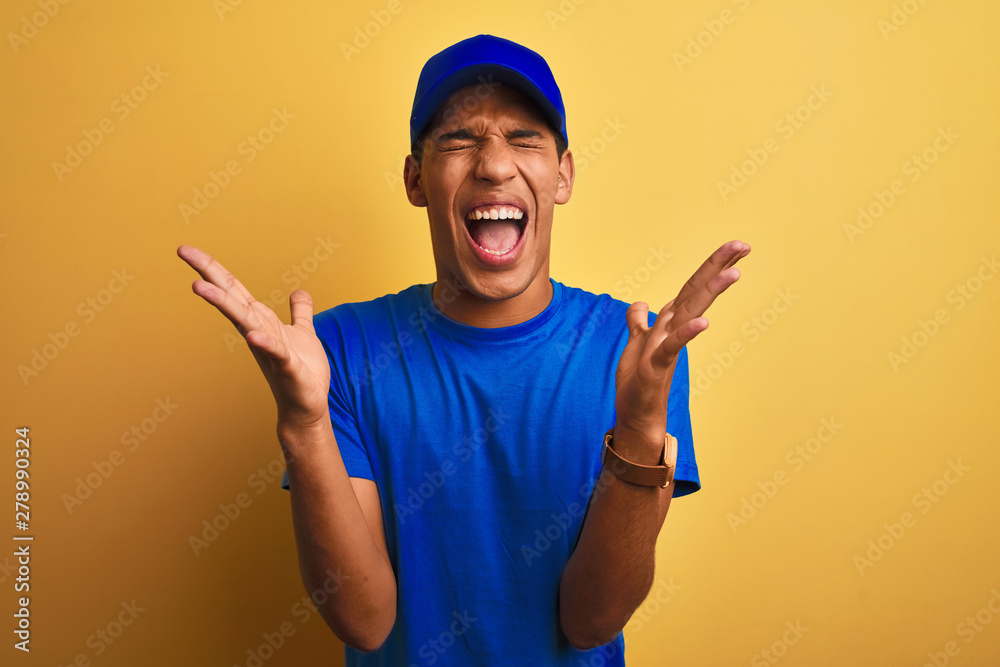
<svg viewBox="0 0 1000 667">
<path fill-rule="evenodd" d="M 509 85 L 467 86 L 446 99 L 427 125 L 428 132 L 451 132 L 460 127 L 484 129 L 491 124 L 545 128 L 545 114 L 527 96 Z"/>
</svg>

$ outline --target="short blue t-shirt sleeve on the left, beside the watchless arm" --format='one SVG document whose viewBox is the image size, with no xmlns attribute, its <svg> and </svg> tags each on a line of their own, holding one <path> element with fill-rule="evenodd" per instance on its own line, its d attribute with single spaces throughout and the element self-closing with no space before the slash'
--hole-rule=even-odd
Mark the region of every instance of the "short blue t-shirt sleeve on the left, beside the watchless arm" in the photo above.
<svg viewBox="0 0 1000 667">
<path fill-rule="evenodd" d="M 347 326 L 343 327 L 333 317 L 332 311 L 319 313 L 313 318 L 316 335 L 322 341 L 330 360 L 330 393 L 327 396 L 330 422 L 348 477 L 374 480 L 375 474 L 368 458 L 368 449 L 361 437 L 355 407 L 358 405 L 355 392 L 363 390 L 366 378 L 358 375 L 355 370 L 364 365 L 362 339 L 359 335 L 351 335 L 354 328 L 350 325 L 356 324 L 353 314 L 348 311 L 345 315 Z M 349 359 L 351 363 L 348 363 Z M 354 374 L 350 375 L 352 372 Z M 289 488 L 287 469 L 281 479 L 281 488 Z"/>
</svg>

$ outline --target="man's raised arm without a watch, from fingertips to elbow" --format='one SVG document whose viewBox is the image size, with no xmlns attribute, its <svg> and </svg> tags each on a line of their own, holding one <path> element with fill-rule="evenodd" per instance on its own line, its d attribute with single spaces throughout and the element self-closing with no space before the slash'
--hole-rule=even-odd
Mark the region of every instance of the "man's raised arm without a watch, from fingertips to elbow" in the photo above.
<svg viewBox="0 0 1000 667">
<path fill-rule="evenodd" d="M 292 321 L 284 324 L 210 255 L 191 246 L 177 255 L 202 277 L 195 294 L 236 326 L 271 387 L 302 582 L 310 594 L 333 590 L 317 605 L 327 625 L 345 644 L 374 651 L 396 620 L 396 579 L 375 484 L 348 477 L 333 435 L 330 365 L 313 329 L 312 298 L 292 292 Z"/>
</svg>

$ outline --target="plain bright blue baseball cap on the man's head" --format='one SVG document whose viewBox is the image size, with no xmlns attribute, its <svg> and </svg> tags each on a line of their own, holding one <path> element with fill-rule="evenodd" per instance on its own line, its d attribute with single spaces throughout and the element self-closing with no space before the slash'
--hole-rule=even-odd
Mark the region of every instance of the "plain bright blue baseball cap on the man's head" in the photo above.
<svg viewBox="0 0 1000 667">
<path fill-rule="evenodd" d="M 410 114 L 410 143 L 430 123 L 453 93 L 477 83 L 504 83 L 538 105 L 550 123 L 566 135 L 566 109 L 548 63 L 529 48 L 493 35 L 476 35 L 432 56 L 420 71 Z"/>
</svg>

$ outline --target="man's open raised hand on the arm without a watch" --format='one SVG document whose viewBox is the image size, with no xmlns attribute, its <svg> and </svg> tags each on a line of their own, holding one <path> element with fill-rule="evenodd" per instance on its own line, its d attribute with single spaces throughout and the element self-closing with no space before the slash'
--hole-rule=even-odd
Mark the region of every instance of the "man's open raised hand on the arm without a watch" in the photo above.
<svg viewBox="0 0 1000 667">
<path fill-rule="evenodd" d="M 218 308 L 246 339 L 271 386 L 279 424 L 308 428 L 329 419 L 330 362 L 313 329 L 309 293 L 296 290 L 288 296 L 292 323 L 284 324 L 208 253 L 182 245 L 177 256 L 204 278 L 194 281 L 194 293 Z"/>
</svg>

